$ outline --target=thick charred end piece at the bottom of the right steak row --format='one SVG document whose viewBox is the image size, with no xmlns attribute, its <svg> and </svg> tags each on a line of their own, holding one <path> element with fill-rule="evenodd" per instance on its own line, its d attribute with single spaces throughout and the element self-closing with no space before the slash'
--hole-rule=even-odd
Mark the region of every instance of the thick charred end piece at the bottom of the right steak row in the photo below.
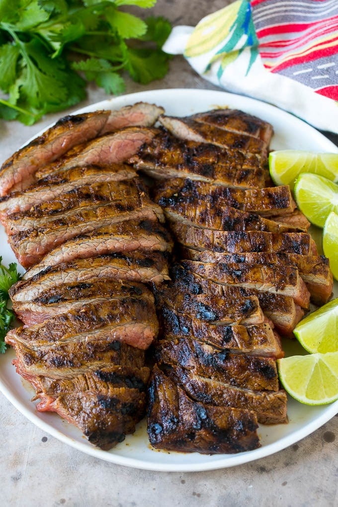
<svg viewBox="0 0 338 507">
<path fill-rule="evenodd" d="M 205 454 L 259 447 L 253 412 L 193 401 L 159 368 L 149 387 L 147 431 L 153 447 Z"/>
</svg>

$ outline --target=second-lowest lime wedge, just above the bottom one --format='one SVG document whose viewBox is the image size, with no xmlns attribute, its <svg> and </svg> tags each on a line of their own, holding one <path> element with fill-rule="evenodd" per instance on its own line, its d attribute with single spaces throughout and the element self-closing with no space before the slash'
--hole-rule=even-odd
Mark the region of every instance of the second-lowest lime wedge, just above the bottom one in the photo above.
<svg viewBox="0 0 338 507">
<path fill-rule="evenodd" d="M 301 320 L 293 333 L 308 352 L 338 352 L 338 298 Z"/>
</svg>

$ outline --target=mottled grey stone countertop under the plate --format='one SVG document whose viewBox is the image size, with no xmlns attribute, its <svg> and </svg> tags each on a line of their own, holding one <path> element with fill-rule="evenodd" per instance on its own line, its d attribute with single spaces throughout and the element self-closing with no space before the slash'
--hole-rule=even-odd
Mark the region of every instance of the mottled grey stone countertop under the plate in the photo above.
<svg viewBox="0 0 338 507">
<path fill-rule="evenodd" d="M 196 24 L 227 3 L 159 0 L 153 12 L 168 17 L 173 24 Z M 126 93 L 178 87 L 217 89 L 197 76 L 183 58 L 175 57 L 164 80 L 148 86 L 127 80 Z M 88 100 L 80 106 L 105 98 L 103 91 L 90 87 Z M 0 122 L 1 161 L 59 116 L 49 115 L 31 127 Z M 309 437 L 267 458 L 200 473 L 147 472 L 93 458 L 35 427 L 2 394 L 0 427 L 0 506 L 4 507 L 338 504 L 337 417 Z"/>
</svg>

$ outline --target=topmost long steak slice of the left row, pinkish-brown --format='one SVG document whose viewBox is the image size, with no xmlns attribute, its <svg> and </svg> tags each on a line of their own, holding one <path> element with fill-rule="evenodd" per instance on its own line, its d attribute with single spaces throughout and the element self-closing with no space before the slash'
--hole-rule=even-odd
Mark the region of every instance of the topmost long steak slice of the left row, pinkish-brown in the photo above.
<svg viewBox="0 0 338 507">
<path fill-rule="evenodd" d="M 61 118 L 2 165 L 0 196 L 7 195 L 11 190 L 27 188 L 34 182 L 35 172 L 39 168 L 58 159 L 71 148 L 122 126 L 151 126 L 162 112 L 162 107 L 144 103 L 114 112 L 96 111 Z"/>
</svg>

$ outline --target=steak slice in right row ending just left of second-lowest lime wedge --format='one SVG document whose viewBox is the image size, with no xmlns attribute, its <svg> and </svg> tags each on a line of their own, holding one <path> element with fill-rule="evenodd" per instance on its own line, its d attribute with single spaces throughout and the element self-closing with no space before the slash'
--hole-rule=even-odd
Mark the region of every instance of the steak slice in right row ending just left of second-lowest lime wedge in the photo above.
<svg viewBox="0 0 338 507">
<path fill-rule="evenodd" d="M 222 285 L 202 278 L 196 273 L 175 264 L 170 269 L 173 290 L 189 294 L 215 294 L 225 299 L 240 301 L 243 297 L 255 296 L 264 314 L 273 322 L 278 333 L 291 335 L 295 325 L 301 320 L 304 311 L 290 296 L 271 294 L 257 289 Z"/>
</svg>

